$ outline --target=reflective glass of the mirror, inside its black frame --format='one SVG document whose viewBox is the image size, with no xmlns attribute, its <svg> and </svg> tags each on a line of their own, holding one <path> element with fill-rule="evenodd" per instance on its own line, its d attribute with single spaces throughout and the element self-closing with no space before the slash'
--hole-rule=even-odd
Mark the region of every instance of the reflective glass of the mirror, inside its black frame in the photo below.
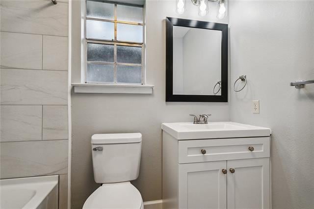
<svg viewBox="0 0 314 209">
<path fill-rule="evenodd" d="M 173 94 L 221 95 L 221 30 L 173 26 Z"/>
</svg>

